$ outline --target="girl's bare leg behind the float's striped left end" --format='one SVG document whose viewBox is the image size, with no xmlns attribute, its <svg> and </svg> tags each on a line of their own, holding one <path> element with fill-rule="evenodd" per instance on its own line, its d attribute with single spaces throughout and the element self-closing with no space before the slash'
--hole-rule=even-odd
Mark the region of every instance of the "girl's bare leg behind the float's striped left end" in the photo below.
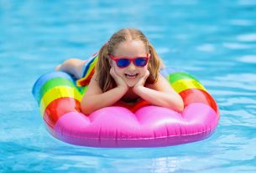
<svg viewBox="0 0 256 173">
<path fill-rule="evenodd" d="M 75 76 L 76 79 L 82 78 L 83 66 L 86 63 L 81 59 L 67 59 L 63 64 L 57 65 L 56 71 L 64 71 L 68 74 Z"/>
</svg>

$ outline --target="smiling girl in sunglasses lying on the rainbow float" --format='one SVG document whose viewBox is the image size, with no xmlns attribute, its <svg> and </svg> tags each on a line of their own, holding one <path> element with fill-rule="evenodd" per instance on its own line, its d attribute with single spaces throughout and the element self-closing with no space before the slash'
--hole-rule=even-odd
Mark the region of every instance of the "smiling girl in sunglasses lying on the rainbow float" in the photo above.
<svg viewBox="0 0 256 173">
<path fill-rule="evenodd" d="M 56 70 L 81 79 L 85 64 L 84 60 L 68 59 Z M 95 73 L 81 100 L 81 111 L 90 114 L 118 101 L 131 103 L 138 99 L 182 111 L 180 95 L 159 74 L 161 66 L 161 59 L 144 33 L 132 28 L 119 30 L 98 53 Z"/>
</svg>

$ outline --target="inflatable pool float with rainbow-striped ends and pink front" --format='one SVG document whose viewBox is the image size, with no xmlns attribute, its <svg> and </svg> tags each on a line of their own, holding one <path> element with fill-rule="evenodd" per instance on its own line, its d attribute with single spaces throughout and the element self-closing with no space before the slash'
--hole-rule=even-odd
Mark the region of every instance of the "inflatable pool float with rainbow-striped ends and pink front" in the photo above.
<svg viewBox="0 0 256 173">
<path fill-rule="evenodd" d="M 161 74 L 182 97 L 183 112 L 139 102 L 82 114 L 80 101 L 86 87 L 77 87 L 76 81 L 63 72 L 41 76 L 34 84 L 33 94 L 50 134 L 73 145 L 157 147 L 190 143 L 212 135 L 219 120 L 212 96 L 190 74 L 173 69 L 163 69 Z"/>
</svg>

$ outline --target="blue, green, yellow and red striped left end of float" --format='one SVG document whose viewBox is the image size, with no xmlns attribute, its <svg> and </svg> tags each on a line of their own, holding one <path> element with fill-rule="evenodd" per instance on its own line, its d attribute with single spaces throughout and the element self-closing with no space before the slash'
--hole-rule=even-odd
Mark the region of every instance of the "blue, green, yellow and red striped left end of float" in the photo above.
<svg viewBox="0 0 256 173">
<path fill-rule="evenodd" d="M 71 76 L 63 72 L 44 74 L 33 88 L 40 114 L 50 130 L 54 130 L 55 123 L 63 114 L 81 112 L 80 102 L 84 92 L 86 87 L 76 87 Z"/>
</svg>

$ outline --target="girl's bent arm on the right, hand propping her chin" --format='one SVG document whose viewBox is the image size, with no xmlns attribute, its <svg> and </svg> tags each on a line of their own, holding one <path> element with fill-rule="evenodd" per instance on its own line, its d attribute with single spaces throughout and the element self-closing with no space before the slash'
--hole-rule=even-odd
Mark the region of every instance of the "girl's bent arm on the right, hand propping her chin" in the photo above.
<svg viewBox="0 0 256 173">
<path fill-rule="evenodd" d="M 133 87 L 133 92 L 138 94 L 142 99 L 149 101 L 151 104 L 182 111 L 184 103 L 180 95 L 170 86 L 169 82 L 159 74 L 159 79 L 155 84 L 144 86 L 144 81 L 148 76 L 144 76 L 138 84 Z"/>
</svg>

